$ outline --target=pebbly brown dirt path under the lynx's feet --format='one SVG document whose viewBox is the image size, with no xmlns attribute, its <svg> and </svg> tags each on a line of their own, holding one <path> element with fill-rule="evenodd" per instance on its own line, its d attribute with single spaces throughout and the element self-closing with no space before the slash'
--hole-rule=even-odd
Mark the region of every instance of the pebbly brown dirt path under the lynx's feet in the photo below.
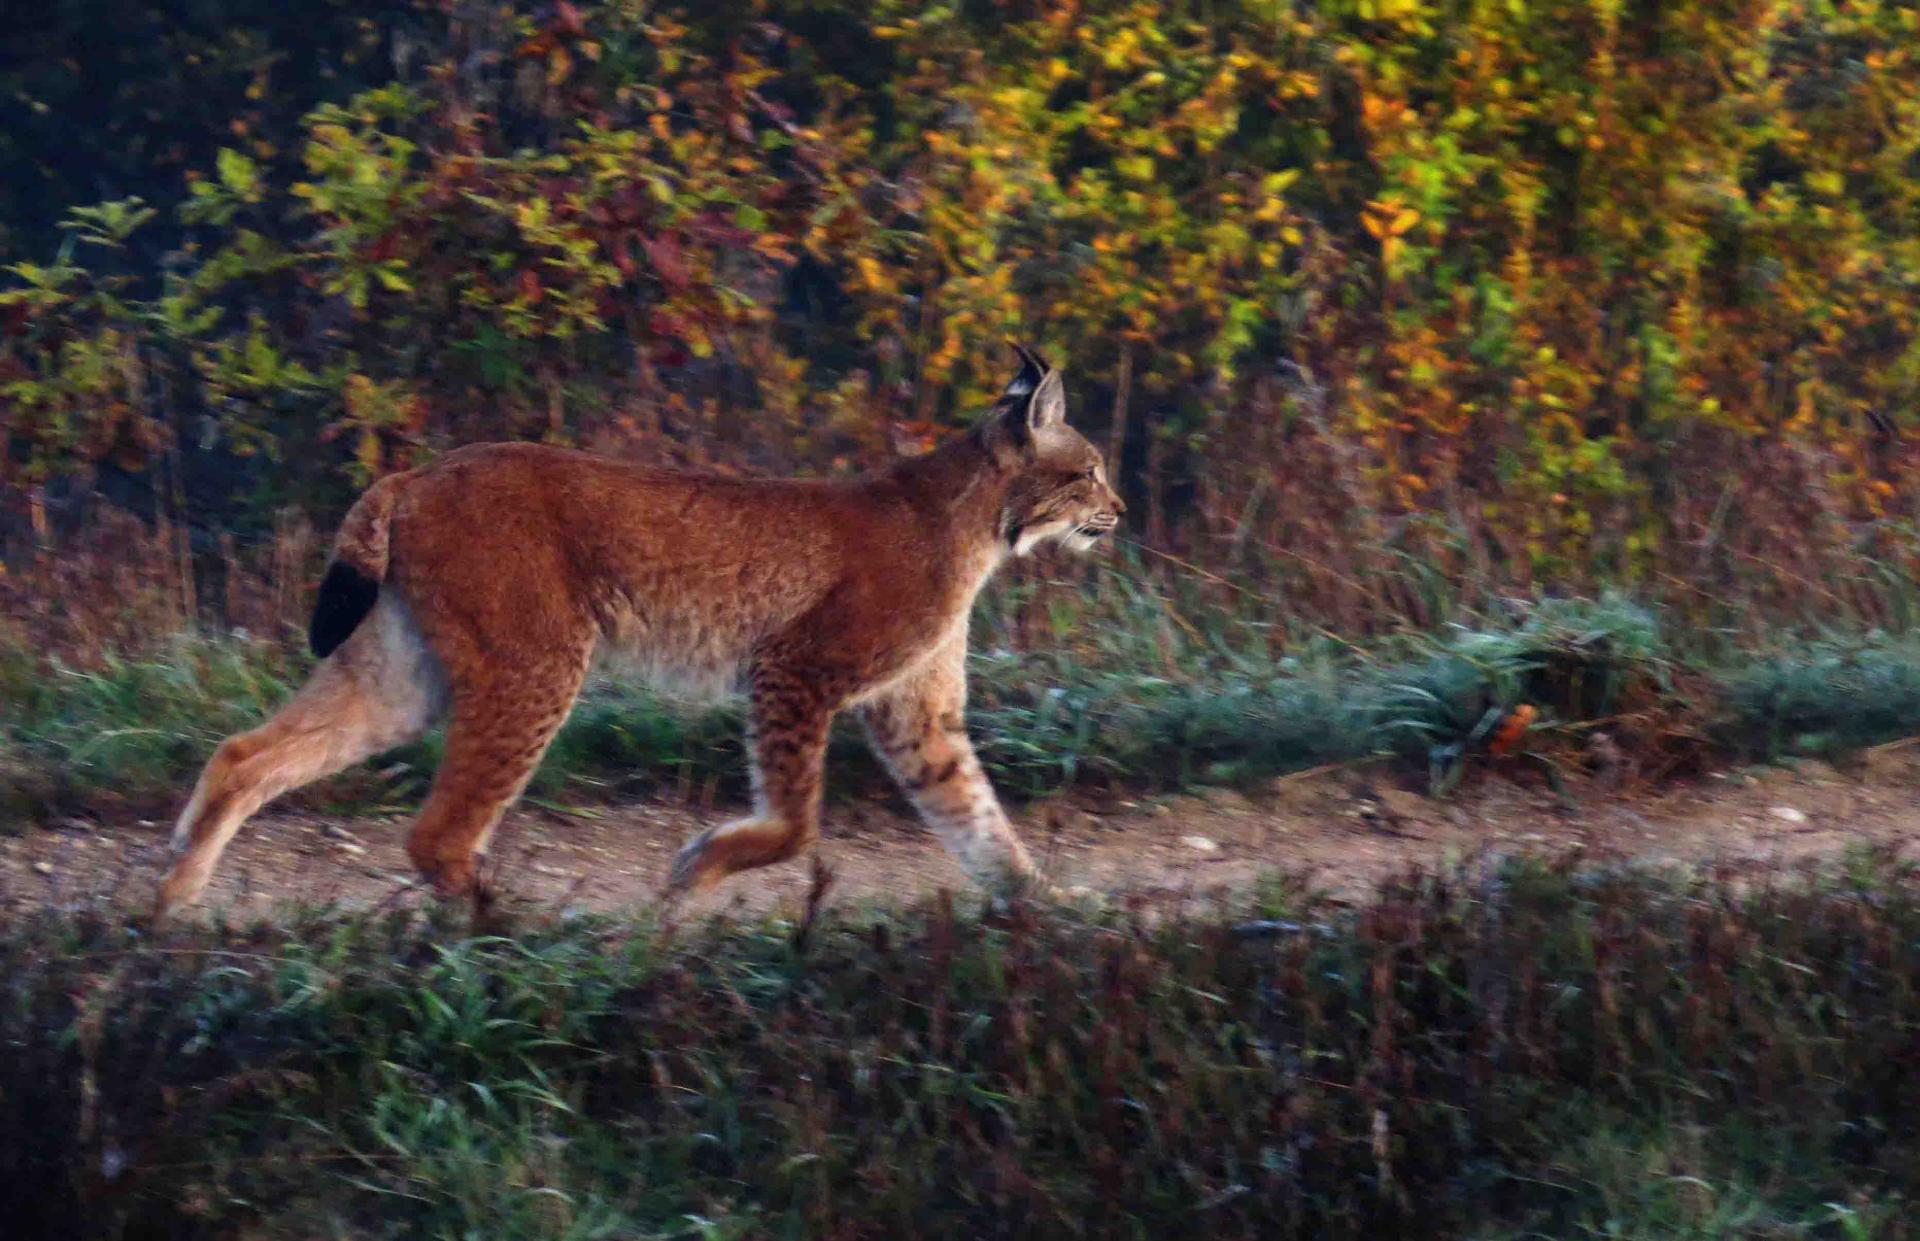
<svg viewBox="0 0 1920 1241">
<path fill-rule="evenodd" d="M 493 882 L 536 907 L 649 903 L 680 841 L 728 813 L 659 801 L 591 815 L 522 807 L 495 838 Z M 420 899 L 405 891 L 405 816 L 263 815 L 227 853 L 204 907 L 253 914 L 284 901 Z M 1736 866 L 1859 845 L 1920 857 L 1920 747 L 1887 749 L 1845 772 L 1818 763 L 1720 772 L 1636 795 L 1597 784 L 1557 795 L 1538 780 L 1482 778 L 1428 801 L 1382 772 L 1344 770 L 1254 795 L 1056 799 L 1025 809 L 1020 828 L 1062 886 L 1154 903 L 1238 888 L 1271 868 L 1308 870 L 1319 886 L 1352 893 L 1409 864 L 1484 851 Z M 163 843 L 165 824 L 150 820 L 0 838 L 0 918 L 48 901 L 144 905 Z M 939 843 L 881 801 L 829 805 L 820 857 L 833 868 L 829 901 L 966 886 Z M 774 866 L 733 880 L 695 911 L 795 907 L 808 882 L 804 863 Z"/>
</svg>

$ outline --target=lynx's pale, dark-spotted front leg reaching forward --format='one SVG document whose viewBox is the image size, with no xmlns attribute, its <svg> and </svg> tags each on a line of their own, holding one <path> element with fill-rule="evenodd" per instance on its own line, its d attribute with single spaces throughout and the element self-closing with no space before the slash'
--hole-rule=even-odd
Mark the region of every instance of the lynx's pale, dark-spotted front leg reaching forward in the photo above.
<svg viewBox="0 0 1920 1241">
<path fill-rule="evenodd" d="M 966 645 L 862 709 L 868 738 L 941 843 L 981 888 L 1044 889 L 966 738 Z"/>
</svg>

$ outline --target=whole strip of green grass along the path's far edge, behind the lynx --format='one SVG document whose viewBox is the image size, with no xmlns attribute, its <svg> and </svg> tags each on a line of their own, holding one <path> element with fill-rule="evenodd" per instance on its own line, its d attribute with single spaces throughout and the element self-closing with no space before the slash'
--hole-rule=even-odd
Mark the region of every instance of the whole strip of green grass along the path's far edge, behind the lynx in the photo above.
<svg viewBox="0 0 1920 1241">
<path fill-rule="evenodd" d="M 1832 755 L 1920 732 L 1920 640 L 1826 634 L 1749 651 L 1674 632 L 1624 596 L 1494 601 L 1428 632 L 1365 645 L 1275 636 L 1127 572 L 1091 590 L 1014 582 L 975 617 L 972 726 L 1012 795 L 1071 786 L 1246 784 L 1325 763 L 1394 757 L 1436 790 L 1480 761 L 1492 728 L 1536 711 L 1528 747 L 1578 763 L 1605 726 L 1626 743 L 1703 755 Z M 1279 653 L 1275 653 L 1279 649 Z M 263 718 L 305 674 L 294 645 L 175 634 L 86 667 L 0 649 L 0 813 L 13 822 L 177 799 L 213 743 Z M 743 788 L 735 703 L 687 705 L 641 686 L 588 690 L 534 782 L 536 797 Z M 417 797 L 438 740 L 319 786 L 311 799 Z M 858 730 L 831 763 L 877 780 Z"/>
</svg>

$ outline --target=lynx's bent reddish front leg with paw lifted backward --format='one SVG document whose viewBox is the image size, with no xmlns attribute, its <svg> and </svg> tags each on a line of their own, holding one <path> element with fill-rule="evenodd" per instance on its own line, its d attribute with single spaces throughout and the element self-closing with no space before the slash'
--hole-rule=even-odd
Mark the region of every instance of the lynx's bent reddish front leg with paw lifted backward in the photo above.
<svg viewBox="0 0 1920 1241">
<path fill-rule="evenodd" d="M 831 722 L 831 705 L 806 678 L 755 678 L 747 728 L 755 813 L 689 840 L 674 857 L 670 895 L 705 891 L 739 870 L 783 863 L 820 840 Z"/>
</svg>

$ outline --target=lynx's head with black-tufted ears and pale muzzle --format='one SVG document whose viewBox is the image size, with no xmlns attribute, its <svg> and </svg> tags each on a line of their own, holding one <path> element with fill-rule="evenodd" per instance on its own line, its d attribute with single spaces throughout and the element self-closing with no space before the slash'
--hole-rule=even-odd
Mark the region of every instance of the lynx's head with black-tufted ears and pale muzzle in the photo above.
<svg viewBox="0 0 1920 1241">
<path fill-rule="evenodd" d="M 1064 542 L 1087 551 L 1119 524 L 1127 505 L 1106 476 L 1100 450 L 1068 426 L 1068 398 L 1054 371 L 1020 350 L 1020 375 L 981 425 L 995 463 L 1012 474 L 1000 509 L 1000 538 L 1014 555 Z"/>
</svg>

